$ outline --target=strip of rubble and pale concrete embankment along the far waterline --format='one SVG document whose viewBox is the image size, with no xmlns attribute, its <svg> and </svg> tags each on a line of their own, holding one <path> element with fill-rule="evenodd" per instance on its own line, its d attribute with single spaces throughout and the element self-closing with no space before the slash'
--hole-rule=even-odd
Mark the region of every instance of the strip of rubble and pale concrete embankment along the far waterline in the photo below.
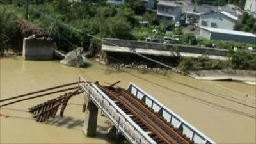
<svg viewBox="0 0 256 144">
<path fill-rule="evenodd" d="M 145 63 L 105 63 L 100 61 L 100 59 L 95 59 L 102 65 L 108 65 L 110 68 L 115 68 L 116 70 L 125 70 L 132 69 L 138 70 L 139 72 L 147 73 L 152 72 L 156 74 L 161 74 L 163 76 L 168 76 L 172 72 L 178 74 L 184 74 L 179 68 L 174 67 L 173 69 L 166 69 L 161 67 L 150 67 Z M 232 69 L 223 69 L 223 70 L 198 70 L 191 71 L 186 74 L 195 79 L 202 79 L 207 81 L 241 81 L 246 84 L 256 85 L 256 71 L 253 70 L 232 70 Z"/>
</svg>

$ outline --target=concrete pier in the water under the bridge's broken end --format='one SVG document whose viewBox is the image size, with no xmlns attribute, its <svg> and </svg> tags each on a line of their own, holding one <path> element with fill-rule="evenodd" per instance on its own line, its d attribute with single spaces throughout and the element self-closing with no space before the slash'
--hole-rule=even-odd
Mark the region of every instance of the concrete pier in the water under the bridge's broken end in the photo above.
<svg viewBox="0 0 256 144">
<path fill-rule="evenodd" d="M 86 111 L 85 111 L 84 126 L 83 126 L 83 132 L 86 136 L 96 135 L 97 118 L 98 118 L 98 107 L 91 100 L 88 100 Z"/>
</svg>

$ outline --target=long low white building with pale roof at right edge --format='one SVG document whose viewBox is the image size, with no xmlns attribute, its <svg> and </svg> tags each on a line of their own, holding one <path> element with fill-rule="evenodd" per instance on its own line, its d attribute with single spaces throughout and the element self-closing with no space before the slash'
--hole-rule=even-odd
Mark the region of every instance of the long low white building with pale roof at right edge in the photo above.
<svg viewBox="0 0 256 144">
<path fill-rule="evenodd" d="M 201 27 L 200 36 L 208 40 L 233 40 L 236 42 L 256 44 L 256 35 L 243 31 Z"/>
</svg>

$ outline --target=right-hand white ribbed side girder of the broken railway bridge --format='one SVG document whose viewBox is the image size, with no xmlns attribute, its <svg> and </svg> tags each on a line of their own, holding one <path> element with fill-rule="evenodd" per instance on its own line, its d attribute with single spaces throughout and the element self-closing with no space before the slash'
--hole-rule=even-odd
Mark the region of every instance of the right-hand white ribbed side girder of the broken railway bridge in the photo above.
<svg viewBox="0 0 256 144">
<path fill-rule="evenodd" d="M 163 116 L 174 127 L 178 128 L 182 134 L 186 134 L 191 140 L 195 141 L 195 143 L 205 143 L 205 144 L 214 144 L 210 138 L 205 136 L 198 129 L 193 127 L 193 125 L 189 124 L 181 118 L 179 115 L 174 113 L 171 109 L 168 109 L 166 106 L 161 104 L 158 100 L 154 99 L 151 95 L 144 92 L 141 88 L 136 86 L 133 83 L 130 83 L 127 88 L 128 92 L 132 93 L 135 97 L 139 98 L 141 101 L 145 102 L 150 108 L 154 109 L 159 115 Z"/>
</svg>

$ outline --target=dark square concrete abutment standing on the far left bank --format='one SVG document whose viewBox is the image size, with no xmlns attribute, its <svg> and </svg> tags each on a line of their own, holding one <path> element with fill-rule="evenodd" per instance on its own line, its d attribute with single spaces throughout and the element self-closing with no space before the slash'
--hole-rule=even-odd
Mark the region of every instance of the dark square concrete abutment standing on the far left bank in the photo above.
<svg viewBox="0 0 256 144">
<path fill-rule="evenodd" d="M 56 44 L 47 38 L 24 38 L 22 56 L 25 60 L 51 60 Z"/>
</svg>

